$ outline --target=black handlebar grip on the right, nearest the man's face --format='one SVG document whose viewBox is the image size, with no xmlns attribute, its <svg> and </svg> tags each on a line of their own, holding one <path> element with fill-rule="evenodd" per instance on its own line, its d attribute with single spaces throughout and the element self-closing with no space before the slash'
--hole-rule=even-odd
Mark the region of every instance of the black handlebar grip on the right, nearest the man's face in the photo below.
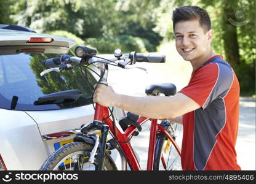
<svg viewBox="0 0 256 184">
<path fill-rule="evenodd" d="M 137 53 L 136 62 L 165 63 L 166 56 L 159 53 Z"/>
</svg>

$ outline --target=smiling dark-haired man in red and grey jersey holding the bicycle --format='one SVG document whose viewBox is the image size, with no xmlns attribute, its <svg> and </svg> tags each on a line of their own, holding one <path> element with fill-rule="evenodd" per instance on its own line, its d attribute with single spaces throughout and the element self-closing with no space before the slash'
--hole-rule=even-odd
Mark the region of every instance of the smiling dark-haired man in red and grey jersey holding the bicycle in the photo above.
<svg viewBox="0 0 256 184">
<path fill-rule="evenodd" d="M 199 7 L 186 6 L 175 9 L 172 20 L 177 51 L 193 66 L 188 85 L 173 97 L 126 96 L 99 85 L 94 102 L 182 123 L 183 170 L 241 170 L 234 149 L 239 83 L 231 66 L 211 48 L 209 15 Z"/>
</svg>

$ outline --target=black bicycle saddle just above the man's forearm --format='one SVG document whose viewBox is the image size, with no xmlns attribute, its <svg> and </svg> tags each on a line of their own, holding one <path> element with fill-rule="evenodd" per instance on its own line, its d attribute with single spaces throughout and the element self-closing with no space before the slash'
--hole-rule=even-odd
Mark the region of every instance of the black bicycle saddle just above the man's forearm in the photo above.
<svg viewBox="0 0 256 184">
<path fill-rule="evenodd" d="M 146 87 L 145 93 L 153 96 L 158 96 L 159 93 L 162 93 L 165 96 L 171 96 L 176 93 L 176 86 L 173 83 L 149 85 Z"/>
</svg>

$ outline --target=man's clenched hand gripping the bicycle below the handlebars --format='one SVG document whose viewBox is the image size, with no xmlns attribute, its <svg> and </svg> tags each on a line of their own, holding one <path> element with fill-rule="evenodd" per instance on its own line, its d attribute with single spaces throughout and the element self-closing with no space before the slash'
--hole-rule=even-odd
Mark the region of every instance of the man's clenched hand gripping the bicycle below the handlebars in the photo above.
<svg viewBox="0 0 256 184">
<path fill-rule="evenodd" d="M 94 88 L 96 85 L 94 85 Z M 111 86 L 106 85 L 98 85 L 93 100 L 94 102 L 97 102 L 98 104 L 105 106 L 105 107 L 115 107 L 116 101 L 118 98 L 118 94 L 114 93 L 114 90 Z"/>
</svg>

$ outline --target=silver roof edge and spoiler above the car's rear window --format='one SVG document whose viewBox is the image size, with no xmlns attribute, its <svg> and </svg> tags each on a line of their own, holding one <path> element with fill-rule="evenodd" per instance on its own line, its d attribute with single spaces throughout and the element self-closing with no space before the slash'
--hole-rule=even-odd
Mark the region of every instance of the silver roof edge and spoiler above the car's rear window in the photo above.
<svg viewBox="0 0 256 184">
<path fill-rule="evenodd" d="M 71 48 L 76 45 L 76 42 L 72 39 L 67 39 L 64 37 L 50 36 L 48 34 L 39 34 L 35 31 L 28 29 L 26 31 L 18 31 L 12 27 L 11 29 L 6 29 L 8 25 L 0 25 L 0 46 L 13 46 L 13 45 L 45 45 L 45 46 L 58 46 L 58 47 L 68 47 Z M 25 28 L 22 26 L 17 26 L 17 28 Z M 53 41 L 50 43 L 27 43 L 31 38 L 52 38 Z"/>
</svg>

